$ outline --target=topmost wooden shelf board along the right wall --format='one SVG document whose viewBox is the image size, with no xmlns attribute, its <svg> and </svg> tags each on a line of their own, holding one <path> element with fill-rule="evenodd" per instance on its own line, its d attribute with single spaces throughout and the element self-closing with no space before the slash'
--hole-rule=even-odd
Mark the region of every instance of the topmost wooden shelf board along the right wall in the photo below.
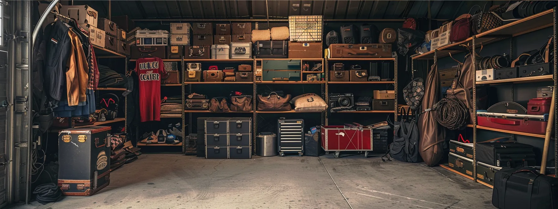
<svg viewBox="0 0 558 209">
<path fill-rule="evenodd" d="M 496 42 L 509 36 L 519 36 L 528 32 L 540 30 L 542 28 L 551 27 L 554 24 L 553 16 L 554 14 L 552 12 L 552 9 L 549 9 L 533 16 L 514 21 L 497 28 L 493 28 L 492 30 L 488 30 L 475 35 L 475 43 L 477 43 L 477 45 L 480 45 L 480 43 L 482 43 L 483 45 L 487 45 L 488 43 Z M 465 48 L 459 45 L 470 46 L 472 41 L 473 37 L 469 37 L 460 42 L 440 46 L 436 48 L 437 56 L 438 58 L 441 58 L 449 56 L 450 53 L 465 51 Z M 421 55 L 413 55 L 411 57 L 415 60 L 431 60 L 434 59 L 434 50 Z"/>
</svg>

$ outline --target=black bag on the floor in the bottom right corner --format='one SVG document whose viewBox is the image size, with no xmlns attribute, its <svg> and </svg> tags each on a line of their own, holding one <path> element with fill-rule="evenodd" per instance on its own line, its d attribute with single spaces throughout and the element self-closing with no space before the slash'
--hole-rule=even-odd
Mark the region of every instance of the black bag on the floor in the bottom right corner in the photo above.
<svg viewBox="0 0 558 209">
<path fill-rule="evenodd" d="M 558 208 L 558 178 L 535 168 L 502 168 L 494 176 L 492 205 L 500 209 Z"/>
</svg>

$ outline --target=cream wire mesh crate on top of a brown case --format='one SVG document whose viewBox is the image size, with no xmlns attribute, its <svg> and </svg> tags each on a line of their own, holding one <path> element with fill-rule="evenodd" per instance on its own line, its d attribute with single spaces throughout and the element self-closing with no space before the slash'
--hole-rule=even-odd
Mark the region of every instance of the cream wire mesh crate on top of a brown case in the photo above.
<svg viewBox="0 0 558 209">
<path fill-rule="evenodd" d="M 322 16 L 288 16 L 288 32 L 291 41 L 321 41 Z"/>
</svg>

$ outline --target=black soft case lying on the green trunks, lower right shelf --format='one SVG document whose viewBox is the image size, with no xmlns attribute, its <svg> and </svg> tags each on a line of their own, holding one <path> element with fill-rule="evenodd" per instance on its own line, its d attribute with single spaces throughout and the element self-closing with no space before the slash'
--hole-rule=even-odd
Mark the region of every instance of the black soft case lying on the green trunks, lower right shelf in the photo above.
<svg viewBox="0 0 558 209">
<path fill-rule="evenodd" d="M 476 157 L 478 162 L 507 168 L 536 166 L 535 152 L 533 152 L 532 145 L 513 141 L 493 142 L 498 139 L 507 139 L 507 137 L 477 143 Z"/>
</svg>

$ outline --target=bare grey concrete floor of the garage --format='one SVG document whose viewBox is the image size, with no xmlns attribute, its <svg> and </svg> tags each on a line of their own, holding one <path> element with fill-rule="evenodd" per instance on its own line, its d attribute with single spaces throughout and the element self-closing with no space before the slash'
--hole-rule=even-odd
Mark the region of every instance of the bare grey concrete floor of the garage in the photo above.
<svg viewBox="0 0 558 209">
<path fill-rule="evenodd" d="M 492 189 L 424 163 L 363 155 L 203 159 L 143 154 L 92 197 L 8 208 L 494 208 Z"/>
</svg>

